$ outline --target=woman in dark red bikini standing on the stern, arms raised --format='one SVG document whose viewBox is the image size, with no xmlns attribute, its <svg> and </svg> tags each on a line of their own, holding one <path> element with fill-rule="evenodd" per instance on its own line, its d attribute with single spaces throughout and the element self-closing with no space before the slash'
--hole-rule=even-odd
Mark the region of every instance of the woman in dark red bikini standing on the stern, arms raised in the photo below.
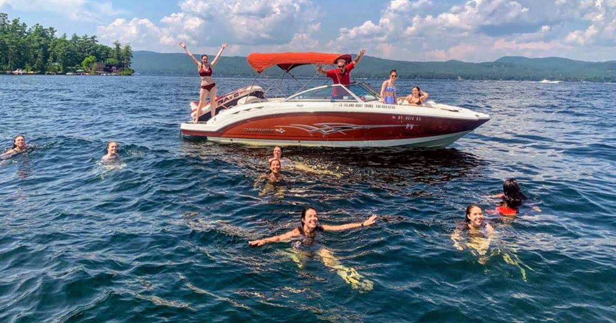
<svg viewBox="0 0 616 323">
<path fill-rule="evenodd" d="M 195 119 L 193 119 L 193 122 L 197 123 L 199 121 L 199 117 L 201 116 L 201 109 L 205 106 L 205 100 L 208 98 L 208 95 L 209 95 L 209 111 L 212 113 L 212 118 L 214 118 L 214 115 L 216 115 L 216 108 L 217 108 L 217 102 L 216 102 L 217 88 L 216 88 L 216 83 L 214 82 L 212 78 L 212 72 L 213 72 L 212 68 L 216 65 L 218 60 L 221 58 L 222 51 L 224 51 L 224 49 L 227 48 L 227 46 L 229 45 L 222 44 L 221 49 L 218 51 L 218 54 L 216 54 L 216 57 L 214 57 L 214 60 L 211 63 L 209 62 L 209 57 L 206 54 L 201 55 L 201 62 L 195 59 L 195 56 L 193 56 L 193 54 L 188 50 L 188 47 L 186 47 L 186 44 L 184 44 L 183 41 L 180 41 L 180 46 L 184 48 L 184 51 L 186 52 L 186 54 L 188 54 L 188 57 L 190 57 L 193 63 L 197 65 L 199 76 L 201 76 L 201 90 L 199 91 L 199 105 L 197 105 L 197 115 Z"/>
</svg>

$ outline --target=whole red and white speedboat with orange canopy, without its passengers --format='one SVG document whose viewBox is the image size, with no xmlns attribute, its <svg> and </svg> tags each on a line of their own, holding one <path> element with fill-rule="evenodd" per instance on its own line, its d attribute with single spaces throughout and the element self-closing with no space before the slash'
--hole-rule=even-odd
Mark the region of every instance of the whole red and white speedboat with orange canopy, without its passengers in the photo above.
<svg viewBox="0 0 616 323">
<path fill-rule="evenodd" d="M 294 67 L 331 65 L 341 58 L 350 62 L 351 55 L 253 53 L 248 63 L 257 73 L 282 68 L 282 84 Z M 365 82 L 300 89 L 288 97 L 269 98 L 266 93 L 253 84 L 218 97 L 214 118 L 205 107 L 198 123 L 182 123 L 180 131 L 214 142 L 253 145 L 445 147 L 490 120 L 485 113 L 432 101 L 383 104 L 379 92 Z M 196 108 L 192 102 L 193 113 Z"/>
</svg>

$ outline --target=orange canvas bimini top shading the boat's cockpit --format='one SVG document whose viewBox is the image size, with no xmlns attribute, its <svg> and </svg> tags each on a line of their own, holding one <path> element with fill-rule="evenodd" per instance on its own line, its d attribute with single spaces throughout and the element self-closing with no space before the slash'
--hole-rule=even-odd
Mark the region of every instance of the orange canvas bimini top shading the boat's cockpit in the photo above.
<svg viewBox="0 0 616 323">
<path fill-rule="evenodd" d="M 325 64 L 332 65 L 339 59 L 344 59 L 347 63 L 351 62 L 349 54 L 331 54 L 319 52 L 282 52 L 282 53 L 251 53 L 246 57 L 248 65 L 254 72 L 261 73 L 274 65 L 289 72 L 291 69 L 300 65 Z"/>
</svg>

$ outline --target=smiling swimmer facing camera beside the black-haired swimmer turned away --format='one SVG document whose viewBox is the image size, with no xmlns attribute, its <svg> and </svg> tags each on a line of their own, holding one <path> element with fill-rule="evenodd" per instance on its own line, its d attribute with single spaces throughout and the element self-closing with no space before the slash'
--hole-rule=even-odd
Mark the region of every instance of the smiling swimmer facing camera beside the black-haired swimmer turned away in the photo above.
<svg viewBox="0 0 616 323">
<path fill-rule="evenodd" d="M 477 204 L 471 204 L 466 207 L 466 216 L 464 216 L 464 223 L 458 224 L 453 231 L 451 239 L 453 240 L 453 247 L 458 250 L 464 250 L 461 241 L 463 240 L 463 232 L 468 234 L 468 242 L 464 245 L 472 250 L 476 251 L 480 256 L 479 263 L 485 263 L 487 258 L 488 247 L 490 247 L 490 240 L 495 237 L 496 232 L 489 223 L 484 222 L 484 213 Z"/>
</svg>

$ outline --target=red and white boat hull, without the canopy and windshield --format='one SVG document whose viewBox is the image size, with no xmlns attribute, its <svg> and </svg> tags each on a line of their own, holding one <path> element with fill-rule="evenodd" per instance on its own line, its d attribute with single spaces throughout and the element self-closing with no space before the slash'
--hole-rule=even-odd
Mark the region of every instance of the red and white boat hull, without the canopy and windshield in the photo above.
<svg viewBox="0 0 616 323">
<path fill-rule="evenodd" d="M 235 107 L 206 124 L 184 123 L 181 131 L 216 142 L 255 145 L 445 147 L 490 119 L 464 108 L 436 106 L 440 107 L 314 104 L 306 108 L 262 102 Z"/>
</svg>

